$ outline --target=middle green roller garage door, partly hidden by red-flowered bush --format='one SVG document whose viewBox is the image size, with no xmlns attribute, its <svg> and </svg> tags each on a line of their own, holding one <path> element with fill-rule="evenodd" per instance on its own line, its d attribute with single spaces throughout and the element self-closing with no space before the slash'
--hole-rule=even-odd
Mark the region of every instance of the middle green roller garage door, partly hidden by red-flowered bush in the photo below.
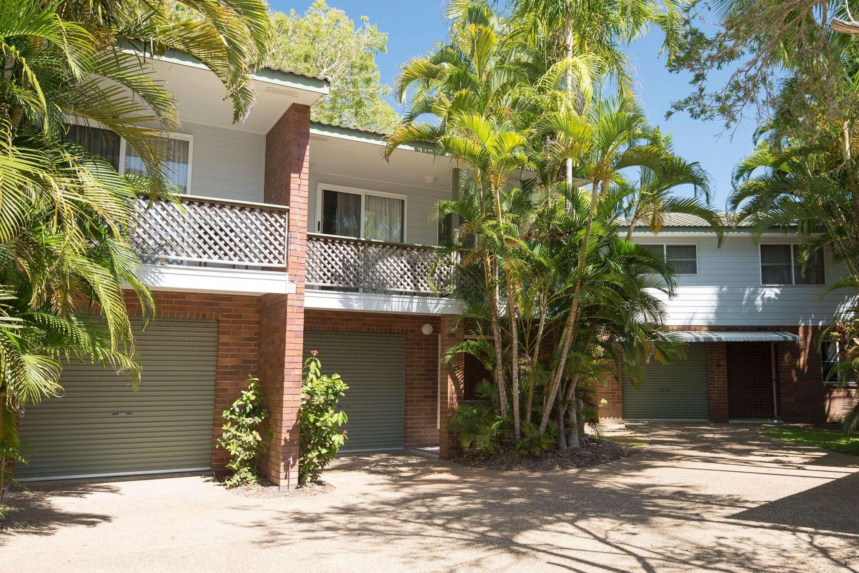
<svg viewBox="0 0 859 573">
<path fill-rule="evenodd" d="M 322 372 L 349 390 L 340 405 L 349 417 L 342 451 L 403 448 L 405 336 L 382 332 L 304 333 L 304 356 L 319 351 Z"/>
</svg>

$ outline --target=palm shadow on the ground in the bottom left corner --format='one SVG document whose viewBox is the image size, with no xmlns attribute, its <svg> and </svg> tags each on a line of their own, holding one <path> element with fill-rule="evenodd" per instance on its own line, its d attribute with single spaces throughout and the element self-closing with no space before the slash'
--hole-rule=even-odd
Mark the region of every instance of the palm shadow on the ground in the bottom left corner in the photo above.
<svg viewBox="0 0 859 573">
<path fill-rule="evenodd" d="M 12 491 L 6 500 L 7 518 L 0 521 L 0 546 L 12 535 L 52 535 L 63 527 L 94 527 L 112 521 L 110 515 L 77 513 L 58 507 L 59 498 L 87 497 L 98 492 L 118 493 L 119 488 L 110 484 L 59 484 Z"/>
</svg>

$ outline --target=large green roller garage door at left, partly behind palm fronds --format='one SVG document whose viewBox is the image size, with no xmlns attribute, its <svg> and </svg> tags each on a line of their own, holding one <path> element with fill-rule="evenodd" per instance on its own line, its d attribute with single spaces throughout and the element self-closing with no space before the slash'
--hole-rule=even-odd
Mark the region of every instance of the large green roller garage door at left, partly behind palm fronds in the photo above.
<svg viewBox="0 0 859 573">
<path fill-rule="evenodd" d="M 216 320 L 158 320 L 136 340 L 137 392 L 127 375 L 75 362 L 60 377 L 62 397 L 27 407 L 19 427 L 32 453 L 19 478 L 211 467 Z"/>
</svg>

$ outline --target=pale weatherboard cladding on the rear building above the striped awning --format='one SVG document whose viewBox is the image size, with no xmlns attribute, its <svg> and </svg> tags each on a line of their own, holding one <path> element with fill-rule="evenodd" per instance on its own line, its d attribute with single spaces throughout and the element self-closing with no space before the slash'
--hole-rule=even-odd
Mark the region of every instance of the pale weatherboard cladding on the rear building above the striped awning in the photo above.
<svg viewBox="0 0 859 573">
<path fill-rule="evenodd" d="M 850 305 L 850 292 L 824 295 L 825 285 L 762 286 L 758 246 L 746 233 L 731 233 L 718 248 L 712 233 L 636 234 L 640 244 L 695 244 L 698 275 L 677 279 L 677 296 L 668 300 L 667 324 L 672 326 L 819 326 Z M 795 235 L 771 234 L 762 243 L 796 243 Z M 826 253 L 826 281 L 840 275 Z M 822 297 L 822 298 L 821 298 Z"/>
</svg>

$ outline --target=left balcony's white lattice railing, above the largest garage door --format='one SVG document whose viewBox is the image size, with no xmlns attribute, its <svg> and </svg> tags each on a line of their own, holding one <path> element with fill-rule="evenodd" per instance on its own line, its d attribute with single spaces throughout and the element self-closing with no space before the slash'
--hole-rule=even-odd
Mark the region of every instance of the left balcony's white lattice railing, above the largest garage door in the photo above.
<svg viewBox="0 0 859 573">
<path fill-rule="evenodd" d="M 144 261 L 284 267 L 289 207 L 180 196 L 141 197 L 135 245 Z"/>
</svg>

